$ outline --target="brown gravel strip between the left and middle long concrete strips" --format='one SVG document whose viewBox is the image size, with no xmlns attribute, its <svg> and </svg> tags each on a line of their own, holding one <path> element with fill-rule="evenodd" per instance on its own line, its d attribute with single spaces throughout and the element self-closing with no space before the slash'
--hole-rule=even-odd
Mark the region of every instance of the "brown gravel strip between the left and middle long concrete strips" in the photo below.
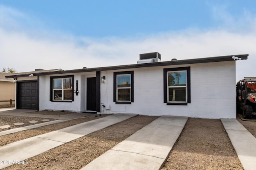
<svg viewBox="0 0 256 170">
<path fill-rule="evenodd" d="M 96 131 L 71 141 L 70 143 L 61 145 L 60 147 L 48 150 L 43 154 L 29 158 L 27 160 L 28 164 L 16 164 L 5 169 L 80 169 L 156 118 L 158 117 L 142 115 L 132 117 L 126 121 L 122 121 L 100 131 Z M 60 123 L 56 123 L 56 126 L 60 126 Z M 2 139 L 0 138 L 0 140 Z"/>
</svg>

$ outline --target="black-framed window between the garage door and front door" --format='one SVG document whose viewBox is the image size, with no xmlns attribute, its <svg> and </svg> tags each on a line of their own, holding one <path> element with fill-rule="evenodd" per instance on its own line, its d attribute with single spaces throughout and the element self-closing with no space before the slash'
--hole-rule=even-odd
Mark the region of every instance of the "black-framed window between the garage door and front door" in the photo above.
<svg viewBox="0 0 256 170">
<path fill-rule="evenodd" d="M 50 77 L 50 101 L 74 101 L 74 75 Z"/>
</svg>

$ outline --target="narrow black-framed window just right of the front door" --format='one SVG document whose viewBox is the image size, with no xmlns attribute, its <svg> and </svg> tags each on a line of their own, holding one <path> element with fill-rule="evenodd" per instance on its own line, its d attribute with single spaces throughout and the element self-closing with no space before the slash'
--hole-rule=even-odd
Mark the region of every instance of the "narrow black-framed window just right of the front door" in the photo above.
<svg viewBox="0 0 256 170">
<path fill-rule="evenodd" d="M 133 94 L 133 71 L 114 72 L 114 102 L 131 104 Z"/>
</svg>

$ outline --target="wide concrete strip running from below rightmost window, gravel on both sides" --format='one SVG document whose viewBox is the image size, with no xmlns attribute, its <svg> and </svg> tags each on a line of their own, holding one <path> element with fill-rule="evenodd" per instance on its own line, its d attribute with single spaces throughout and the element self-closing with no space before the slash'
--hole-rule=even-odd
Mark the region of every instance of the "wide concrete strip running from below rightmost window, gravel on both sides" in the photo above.
<svg viewBox="0 0 256 170">
<path fill-rule="evenodd" d="M 82 170 L 158 170 L 188 117 L 161 116 L 108 150 Z"/>
</svg>

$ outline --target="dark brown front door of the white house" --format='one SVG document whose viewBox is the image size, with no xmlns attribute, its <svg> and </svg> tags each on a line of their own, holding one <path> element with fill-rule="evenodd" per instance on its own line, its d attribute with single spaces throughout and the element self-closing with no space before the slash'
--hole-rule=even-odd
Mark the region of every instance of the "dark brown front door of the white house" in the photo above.
<svg viewBox="0 0 256 170">
<path fill-rule="evenodd" d="M 87 78 L 86 110 L 96 111 L 96 77 Z"/>
</svg>

